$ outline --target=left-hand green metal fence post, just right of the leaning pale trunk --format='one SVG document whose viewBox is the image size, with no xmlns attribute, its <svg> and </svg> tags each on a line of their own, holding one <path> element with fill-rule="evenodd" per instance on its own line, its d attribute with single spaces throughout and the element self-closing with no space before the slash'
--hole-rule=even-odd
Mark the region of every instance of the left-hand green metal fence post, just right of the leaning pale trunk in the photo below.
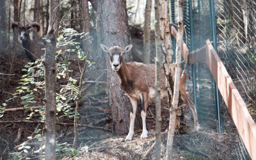
<svg viewBox="0 0 256 160">
<path fill-rule="evenodd" d="M 191 37 L 191 51 L 195 50 L 194 46 L 194 26 L 193 26 L 193 11 L 192 0 L 189 0 L 189 24 L 190 24 L 190 37 Z M 192 77 L 193 77 L 193 99 L 196 106 L 196 115 L 198 115 L 197 97 L 196 97 L 196 65 L 192 65 Z M 198 118 L 198 117 L 197 117 Z"/>
</svg>

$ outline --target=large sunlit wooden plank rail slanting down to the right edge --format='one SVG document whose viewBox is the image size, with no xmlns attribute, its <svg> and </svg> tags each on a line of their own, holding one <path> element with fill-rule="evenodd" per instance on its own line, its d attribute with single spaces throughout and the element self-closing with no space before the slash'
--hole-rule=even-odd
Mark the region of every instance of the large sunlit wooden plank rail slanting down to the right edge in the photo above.
<svg viewBox="0 0 256 160">
<path fill-rule="evenodd" d="M 252 159 L 256 159 L 256 124 L 209 40 L 206 40 L 205 61 L 211 70 L 214 80 L 218 84 L 220 93 L 230 111 L 248 153 Z"/>
</svg>

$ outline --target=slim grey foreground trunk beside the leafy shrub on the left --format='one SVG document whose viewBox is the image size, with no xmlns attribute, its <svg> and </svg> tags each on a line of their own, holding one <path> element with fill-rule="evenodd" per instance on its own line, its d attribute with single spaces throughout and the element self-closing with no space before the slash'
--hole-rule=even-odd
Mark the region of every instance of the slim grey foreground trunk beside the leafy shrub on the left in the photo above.
<svg viewBox="0 0 256 160">
<path fill-rule="evenodd" d="M 56 36 L 60 22 L 60 1 L 50 1 L 49 32 L 45 44 L 45 159 L 56 159 Z"/>
</svg>

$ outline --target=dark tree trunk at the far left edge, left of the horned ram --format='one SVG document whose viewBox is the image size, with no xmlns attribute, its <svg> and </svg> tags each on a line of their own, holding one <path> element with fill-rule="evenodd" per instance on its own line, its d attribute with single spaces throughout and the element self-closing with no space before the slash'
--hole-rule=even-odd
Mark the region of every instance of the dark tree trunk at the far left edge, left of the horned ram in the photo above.
<svg viewBox="0 0 256 160">
<path fill-rule="evenodd" d="M 7 35 L 5 31 L 5 12 L 6 3 L 4 0 L 0 0 L 0 49 L 4 47 Z"/>
</svg>

